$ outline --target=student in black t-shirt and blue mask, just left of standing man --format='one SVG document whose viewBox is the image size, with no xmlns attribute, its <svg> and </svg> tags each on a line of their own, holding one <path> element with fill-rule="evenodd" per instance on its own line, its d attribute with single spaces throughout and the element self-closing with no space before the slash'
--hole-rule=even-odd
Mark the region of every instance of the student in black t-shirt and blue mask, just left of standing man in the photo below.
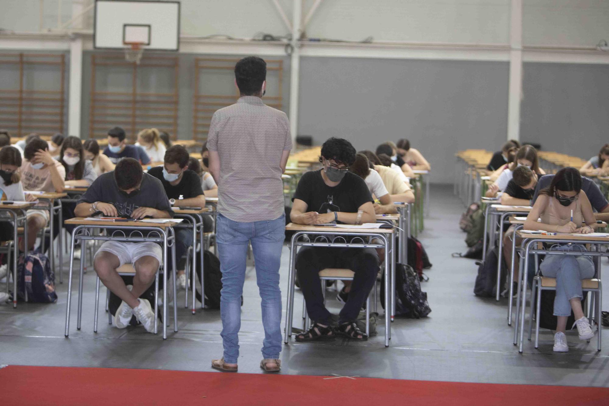
<svg viewBox="0 0 609 406">
<path fill-rule="evenodd" d="M 188 151 L 181 145 L 167 149 L 164 166 L 156 166 L 148 171 L 163 184 L 167 198 L 175 199 L 174 207 L 205 207 L 205 195 L 199 176 L 188 167 Z M 180 199 L 182 198 L 182 199 Z M 209 219 L 209 216 L 203 216 Z M 209 227 L 209 226 L 208 226 Z M 205 228 L 205 227 L 203 227 Z M 186 289 L 185 254 L 192 245 L 191 229 L 175 229 L 175 259 L 177 262 L 177 287 Z"/>
</svg>

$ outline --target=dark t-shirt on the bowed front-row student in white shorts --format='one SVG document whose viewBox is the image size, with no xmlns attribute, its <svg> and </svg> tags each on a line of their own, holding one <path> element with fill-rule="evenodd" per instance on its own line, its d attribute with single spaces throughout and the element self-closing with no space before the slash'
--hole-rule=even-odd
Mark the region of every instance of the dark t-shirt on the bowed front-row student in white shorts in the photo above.
<svg viewBox="0 0 609 406">
<path fill-rule="evenodd" d="M 170 217 L 174 216 L 161 181 L 147 173 L 142 178 L 139 193 L 132 198 L 127 198 L 121 193 L 114 180 L 114 171 L 111 171 L 97 177 L 78 202 L 113 204 L 120 217 L 130 217 L 133 210 L 138 207 L 152 207 L 168 212 Z M 96 214 L 99 212 L 91 213 L 91 216 Z M 129 233 L 130 230 L 127 230 L 126 234 L 129 235 Z"/>
</svg>

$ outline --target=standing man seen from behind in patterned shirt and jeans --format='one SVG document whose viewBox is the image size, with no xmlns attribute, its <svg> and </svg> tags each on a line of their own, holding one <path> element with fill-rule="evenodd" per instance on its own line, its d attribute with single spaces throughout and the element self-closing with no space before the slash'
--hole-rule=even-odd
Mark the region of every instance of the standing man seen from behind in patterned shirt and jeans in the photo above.
<svg viewBox="0 0 609 406">
<path fill-rule="evenodd" d="M 246 57 L 234 66 L 241 97 L 217 110 L 209 125 L 209 171 L 218 185 L 216 240 L 222 271 L 224 357 L 211 362 L 220 371 L 237 371 L 241 294 L 245 260 L 252 243 L 256 280 L 262 298 L 264 341 L 260 367 L 279 372 L 281 291 L 279 266 L 285 238 L 283 182 L 292 149 L 286 113 L 262 102 L 266 62 Z"/>
</svg>

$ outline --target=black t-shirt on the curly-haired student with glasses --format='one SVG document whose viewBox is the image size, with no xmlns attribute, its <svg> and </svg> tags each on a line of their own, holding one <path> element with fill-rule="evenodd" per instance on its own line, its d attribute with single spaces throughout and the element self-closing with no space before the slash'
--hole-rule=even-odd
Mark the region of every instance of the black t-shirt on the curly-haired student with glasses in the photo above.
<svg viewBox="0 0 609 406">
<path fill-rule="evenodd" d="M 322 178 L 322 170 L 307 172 L 300 178 L 294 199 L 307 204 L 308 212 L 357 213 L 365 202 L 373 202 L 364 179 L 348 172 L 335 187 L 329 187 Z"/>
</svg>

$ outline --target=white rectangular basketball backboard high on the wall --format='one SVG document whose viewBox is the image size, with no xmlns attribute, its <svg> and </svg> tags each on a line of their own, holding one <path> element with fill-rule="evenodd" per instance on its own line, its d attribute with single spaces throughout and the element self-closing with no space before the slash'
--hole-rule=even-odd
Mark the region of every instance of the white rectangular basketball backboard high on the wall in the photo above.
<svg viewBox="0 0 609 406">
<path fill-rule="evenodd" d="M 146 50 L 180 48 L 179 1 L 96 0 L 94 48 Z"/>
</svg>

